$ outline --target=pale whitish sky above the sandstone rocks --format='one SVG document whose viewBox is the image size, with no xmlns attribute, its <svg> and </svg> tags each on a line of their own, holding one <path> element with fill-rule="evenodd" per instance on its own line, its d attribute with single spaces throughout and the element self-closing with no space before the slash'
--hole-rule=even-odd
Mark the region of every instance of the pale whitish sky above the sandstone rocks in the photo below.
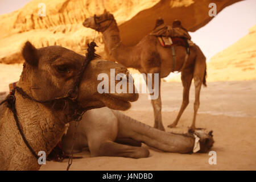
<svg viewBox="0 0 256 182">
<path fill-rule="evenodd" d="M 0 0 L 0 14 L 22 8 L 29 1 Z M 255 24 L 256 0 L 245 0 L 226 7 L 206 26 L 196 32 L 189 32 L 189 34 L 192 41 L 202 49 L 207 61 L 209 61 L 210 57 L 248 34 L 249 28 Z"/>
</svg>

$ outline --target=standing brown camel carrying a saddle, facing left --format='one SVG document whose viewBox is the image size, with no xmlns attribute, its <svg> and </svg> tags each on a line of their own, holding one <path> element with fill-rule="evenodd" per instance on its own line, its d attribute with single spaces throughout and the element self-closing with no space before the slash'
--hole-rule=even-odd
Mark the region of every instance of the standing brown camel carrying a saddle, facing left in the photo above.
<svg viewBox="0 0 256 182">
<path fill-rule="evenodd" d="M 190 54 L 184 67 L 187 51 L 183 46 L 175 46 L 175 66 L 173 66 L 172 49 L 162 47 L 156 36 L 147 35 L 135 46 L 125 46 L 122 43 L 117 23 L 113 14 L 105 11 L 101 15 L 94 15 L 86 18 L 83 22 L 84 27 L 92 28 L 98 32 L 102 32 L 105 50 L 109 55 L 110 61 L 117 61 L 125 65 L 127 68 L 138 69 L 141 73 L 159 73 L 158 88 L 159 97 L 151 100 L 154 108 L 154 127 L 159 130 L 164 130 L 162 123 L 162 102 L 160 96 L 160 78 L 164 78 L 171 71 L 180 71 L 181 81 L 183 84 L 183 101 L 175 121 L 168 127 L 175 127 L 179 121 L 181 114 L 189 103 L 189 88 L 192 79 L 195 82 L 195 103 L 194 114 L 191 129 L 195 130 L 196 114 L 200 105 L 200 89 L 201 85 L 206 86 L 206 59 L 201 49 L 196 46 L 190 47 Z M 136 28 L 136 27 L 134 27 Z M 147 81 L 146 81 L 147 83 Z M 154 74 L 152 74 L 152 85 L 154 85 Z"/>
</svg>

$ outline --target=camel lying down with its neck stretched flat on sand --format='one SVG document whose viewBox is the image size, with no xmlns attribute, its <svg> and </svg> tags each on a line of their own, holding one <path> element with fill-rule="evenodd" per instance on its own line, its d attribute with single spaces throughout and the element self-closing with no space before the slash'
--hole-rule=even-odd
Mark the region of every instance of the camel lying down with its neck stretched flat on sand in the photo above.
<svg viewBox="0 0 256 182">
<path fill-rule="evenodd" d="M 71 122 L 68 132 L 61 140 L 65 154 L 71 153 L 75 122 Z M 199 138 L 199 152 L 208 152 L 213 146 L 212 131 L 196 131 Z M 195 137 L 192 134 L 174 134 L 145 125 L 118 110 L 108 107 L 88 110 L 76 131 L 73 152 L 81 152 L 89 147 L 90 155 L 121 156 L 126 158 L 147 158 L 149 151 L 141 144 L 164 152 L 193 153 Z M 195 152 L 195 151 L 194 151 Z"/>
</svg>

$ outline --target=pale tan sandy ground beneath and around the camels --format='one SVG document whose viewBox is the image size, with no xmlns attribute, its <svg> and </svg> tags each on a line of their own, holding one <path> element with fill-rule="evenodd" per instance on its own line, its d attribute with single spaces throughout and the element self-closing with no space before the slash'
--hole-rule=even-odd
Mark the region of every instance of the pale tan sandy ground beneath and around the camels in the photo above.
<svg viewBox="0 0 256 182">
<path fill-rule="evenodd" d="M 175 154 L 150 148 L 150 157 L 130 159 L 119 157 L 90 158 L 85 151 L 76 156 L 70 170 L 255 170 L 256 169 L 256 81 L 209 82 L 201 90 L 201 106 L 197 115 L 197 127 L 213 130 L 213 151 L 217 164 L 210 165 L 208 154 Z M 185 110 L 176 129 L 187 130 L 193 117 L 194 88 L 191 103 Z M 182 98 L 181 83 L 162 84 L 163 123 L 167 127 L 174 121 Z M 147 99 L 141 94 L 127 115 L 148 125 L 153 125 L 154 114 Z M 145 146 L 147 147 L 147 146 Z M 65 170 L 68 160 L 47 162 L 41 170 Z"/>
</svg>

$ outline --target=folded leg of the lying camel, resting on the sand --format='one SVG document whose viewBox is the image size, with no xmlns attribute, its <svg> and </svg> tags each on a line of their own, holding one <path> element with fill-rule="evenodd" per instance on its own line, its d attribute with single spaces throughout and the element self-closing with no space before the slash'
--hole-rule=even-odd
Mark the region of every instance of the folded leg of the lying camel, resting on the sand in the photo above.
<svg viewBox="0 0 256 182">
<path fill-rule="evenodd" d="M 111 140 L 101 142 L 98 148 L 90 148 L 90 155 L 95 156 L 120 156 L 125 158 L 147 158 L 149 151 L 143 147 L 127 146 L 125 144 L 115 143 Z"/>
</svg>

